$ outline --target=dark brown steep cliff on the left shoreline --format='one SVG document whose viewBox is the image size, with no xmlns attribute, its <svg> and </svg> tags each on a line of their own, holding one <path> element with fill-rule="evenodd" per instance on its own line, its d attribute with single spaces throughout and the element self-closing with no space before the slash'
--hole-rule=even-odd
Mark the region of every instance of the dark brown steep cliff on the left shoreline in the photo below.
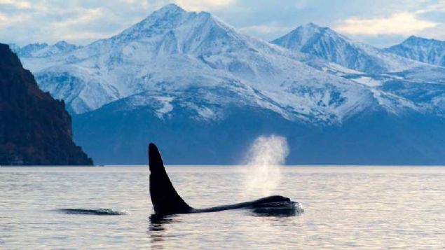
<svg viewBox="0 0 445 250">
<path fill-rule="evenodd" d="M 64 102 L 40 90 L 17 55 L 1 43 L 0 165 L 93 165 L 72 140 Z"/>
</svg>

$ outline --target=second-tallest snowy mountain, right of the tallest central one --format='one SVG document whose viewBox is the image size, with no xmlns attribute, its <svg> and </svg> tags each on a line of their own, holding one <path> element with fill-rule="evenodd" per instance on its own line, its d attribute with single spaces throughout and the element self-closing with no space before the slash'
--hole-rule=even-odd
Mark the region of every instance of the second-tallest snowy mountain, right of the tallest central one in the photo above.
<svg viewBox="0 0 445 250">
<path fill-rule="evenodd" d="M 371 74 L 405 71 L 422 66 L 419 62 L 352 41 L 328 27 L 319 27 L 313 23 L 297 27 L 271 43 Z"/>
</svg>

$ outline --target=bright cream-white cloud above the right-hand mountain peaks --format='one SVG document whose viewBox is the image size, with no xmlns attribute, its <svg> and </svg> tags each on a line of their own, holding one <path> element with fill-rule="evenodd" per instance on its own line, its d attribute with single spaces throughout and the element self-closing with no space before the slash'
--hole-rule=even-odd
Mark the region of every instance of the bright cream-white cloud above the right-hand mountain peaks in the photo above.
<svg viewBox="0 0 445 250">
<path fill-rule="evenodd" d="M 411 35 L 437 25 L 436 22 L 419 20 L 413 13 L 395 13 L 387 18 L 349 18 L 334 29 L 354 35 Z"/>
</svg>

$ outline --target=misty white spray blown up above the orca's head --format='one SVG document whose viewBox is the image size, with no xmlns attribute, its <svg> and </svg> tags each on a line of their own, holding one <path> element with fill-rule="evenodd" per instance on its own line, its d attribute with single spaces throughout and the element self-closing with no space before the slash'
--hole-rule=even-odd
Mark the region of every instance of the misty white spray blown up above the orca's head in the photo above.
<svg viewBox="0 0 445 250">
<path fill-rule="evenodd" d="M 287 139 L 277 135 L 255 139 L 247 158 L 246 192 L 255 195 L 271 195 L 280 182 L 280 165 L 289 155 Z"/>
</svg>

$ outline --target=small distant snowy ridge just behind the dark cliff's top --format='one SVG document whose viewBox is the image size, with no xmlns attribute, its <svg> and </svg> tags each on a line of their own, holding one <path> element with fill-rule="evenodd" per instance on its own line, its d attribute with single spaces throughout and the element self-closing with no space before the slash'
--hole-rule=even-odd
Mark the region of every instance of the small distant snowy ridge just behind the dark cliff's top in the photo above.
<svg viewBox="0 0 445 250">
<path fill-rule="evenodd" d="M 48 45 L 47 43 L 30 43 L 27 46 L 17 46 L 15 44 L 10 44 L 11 50 L 17 53 L 19 57 L 49 57 L 52 55 L 69 53 L 73 50 L 81 48 L 81 46 L 76 46 L 66 41 L 59 41 L 53 45 Z"/>
</svg>

